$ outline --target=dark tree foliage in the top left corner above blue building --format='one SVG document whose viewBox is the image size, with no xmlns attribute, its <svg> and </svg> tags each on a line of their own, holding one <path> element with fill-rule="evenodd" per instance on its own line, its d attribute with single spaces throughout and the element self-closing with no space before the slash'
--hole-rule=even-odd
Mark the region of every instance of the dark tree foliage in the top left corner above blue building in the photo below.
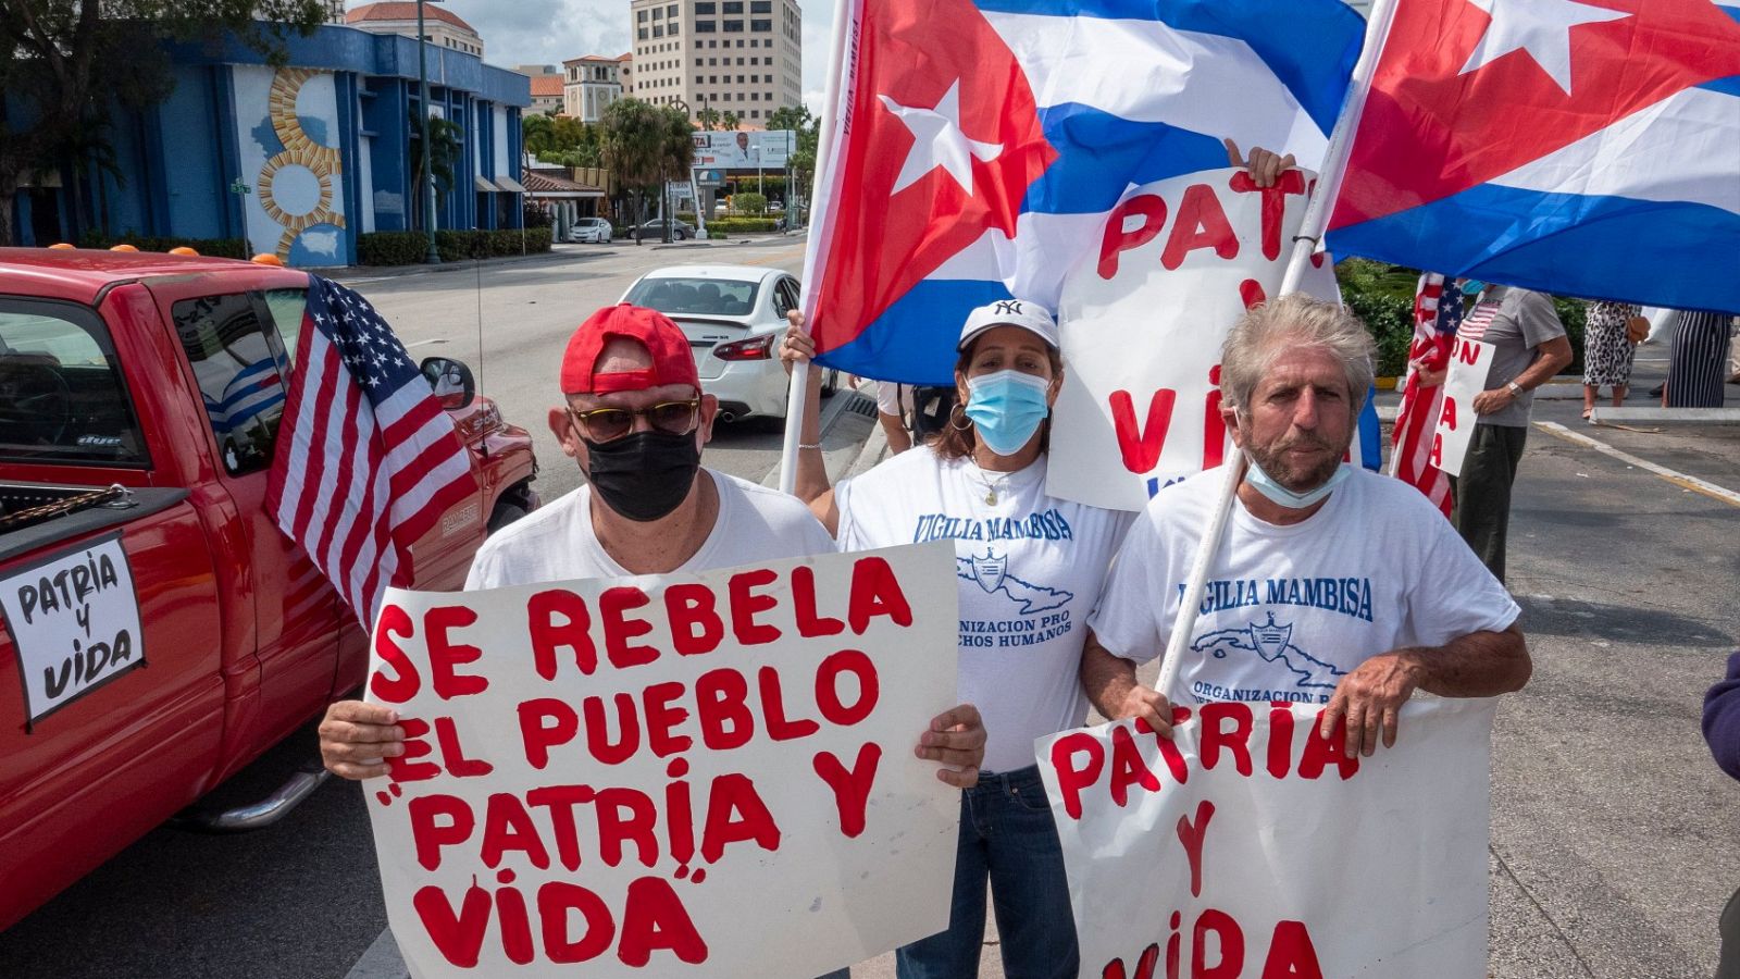
<svg viewBox="0 0 1740 979">
<path fill-rule="evenodd" d="M 230 33 L 280 64 L 291 33 L 325 12 L 320 0 L 0 0 L 0 244 L 12 242 L 12 195 L 33 174 L 71 159 L 124 176 L 113 111 L 169 96 L 167 42 Z"/>
</svg>

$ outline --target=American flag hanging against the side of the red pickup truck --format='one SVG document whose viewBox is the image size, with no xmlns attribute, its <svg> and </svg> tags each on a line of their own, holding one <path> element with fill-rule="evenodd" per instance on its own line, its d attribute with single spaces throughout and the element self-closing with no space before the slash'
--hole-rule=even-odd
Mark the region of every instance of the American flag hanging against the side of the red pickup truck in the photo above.
<svg viewBox="0 0 1740 979">
<path fill-rule="evenodd" d="M 477 491 L 452 420 L 357 293 L 308 277 L 266 507 L 364 629 L 411 584 L 411 545 Z"/>
</svg>

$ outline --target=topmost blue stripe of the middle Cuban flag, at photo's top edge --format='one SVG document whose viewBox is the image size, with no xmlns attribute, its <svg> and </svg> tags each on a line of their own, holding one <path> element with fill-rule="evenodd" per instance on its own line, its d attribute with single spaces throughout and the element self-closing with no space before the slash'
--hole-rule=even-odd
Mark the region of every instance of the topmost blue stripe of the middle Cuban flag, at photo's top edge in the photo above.
<svg viewBox="0 0 1740 979">
<path fill-rule="evenodd" d="M 1347 77 L 1366 37 L 1364 17 L 1342 0 L 974 0 L 974 5 L 1004 14 L 1159 21 L 1181 31 L 1239 38 L 1324 132 L 1342 113 Z M 1286 30 L 1277 31 L 1275 24 Z M 1060 23 L 1058 30 L 1068 26 Z"/>
</svg>

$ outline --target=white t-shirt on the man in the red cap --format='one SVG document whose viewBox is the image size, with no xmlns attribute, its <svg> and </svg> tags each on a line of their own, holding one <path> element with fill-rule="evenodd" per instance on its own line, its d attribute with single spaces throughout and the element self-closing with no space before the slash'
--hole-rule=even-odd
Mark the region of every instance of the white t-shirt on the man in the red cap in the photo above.
<svg viewBox="0 0 1740 979">
<path fill-rule="evenodd" d="M 719 519 L 699 550 L 675 571 L 708 571 L 804 554 L 832 554 L 833 538 L 795 496 L 701 469 L 719 488 Z M 501 528 L 472 559 L 466 591 L 578 578 L 625 578 L 592 530 L 592 486 Z"/>
</svg>

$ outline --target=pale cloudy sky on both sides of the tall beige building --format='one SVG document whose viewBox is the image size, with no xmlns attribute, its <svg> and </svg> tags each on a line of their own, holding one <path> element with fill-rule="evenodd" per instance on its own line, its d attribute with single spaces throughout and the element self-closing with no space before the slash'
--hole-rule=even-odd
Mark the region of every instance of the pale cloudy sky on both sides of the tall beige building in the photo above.
<svg viewBox="0 0 1740 979">
<path fill-rule="evenodd" d="M 358 3 L 351 2 L 350 7 Z M 447 0 L 442 3 L 484 38 L 484 61 L 555 64 L 585 54 L 630 51 L 628 0 Z M 804 10 L 804 105 L 821 110 L 833 0 L 799 0 Z"/>
</svg>

